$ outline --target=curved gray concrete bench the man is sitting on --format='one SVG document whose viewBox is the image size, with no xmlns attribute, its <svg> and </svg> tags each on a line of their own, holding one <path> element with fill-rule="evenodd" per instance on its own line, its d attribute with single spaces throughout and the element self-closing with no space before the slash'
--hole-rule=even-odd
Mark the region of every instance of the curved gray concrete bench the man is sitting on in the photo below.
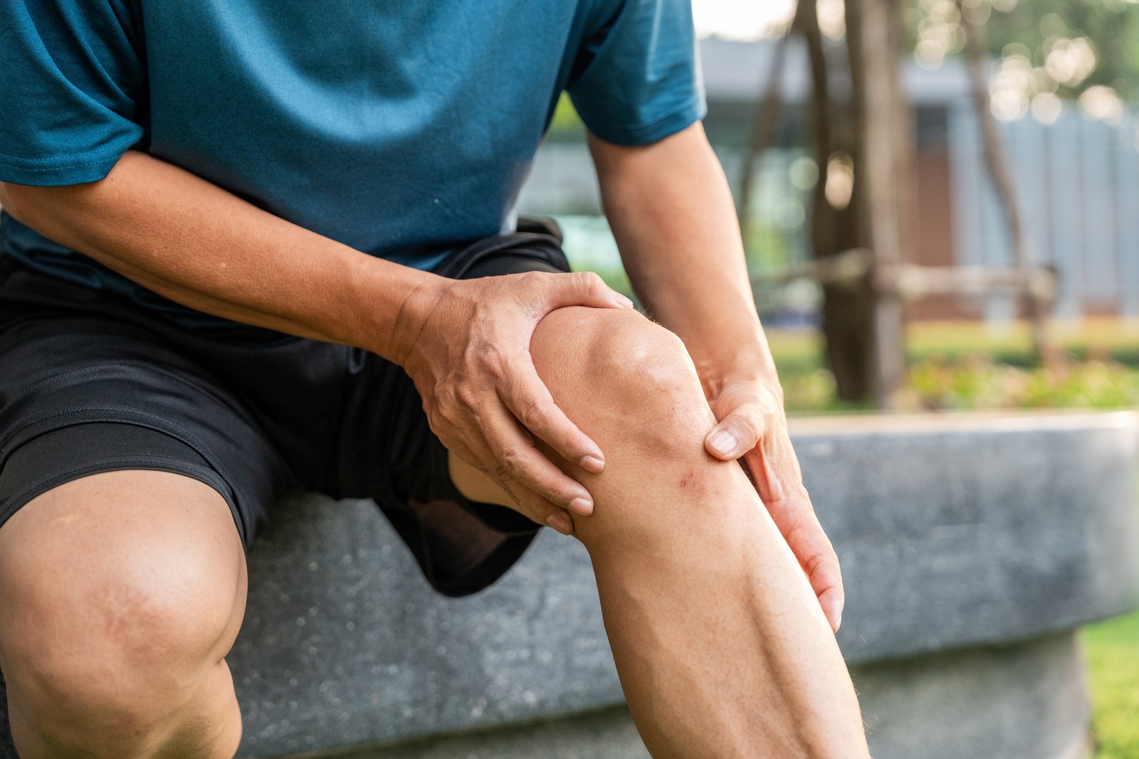
<svg viewBox="0 0 1139 759">
<path fill-rule="evenodd" d="M 843 562 L 838 640 L 875 757 L 1077 757 L 1075 628 L 1139 604 L 1139 414 L 829 418 L 793 434 Z M 284 504 L 251 555 L 230 657 L 240 756 L 647 757 L 589 558 L 547 533 L 503 580 L 452 600 L 370 503 Z"/>
</svg>

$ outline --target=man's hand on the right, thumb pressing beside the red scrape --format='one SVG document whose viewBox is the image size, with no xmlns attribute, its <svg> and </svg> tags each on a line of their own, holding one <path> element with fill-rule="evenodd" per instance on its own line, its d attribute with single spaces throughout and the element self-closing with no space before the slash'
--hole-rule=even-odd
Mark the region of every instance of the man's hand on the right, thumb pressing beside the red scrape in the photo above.
<svg viewBox="0 0 1139 759">
<path fill-rule="evenodd" d="M 844 603 L 838 556 L 803 487 L 781 391 L 760 380 L 736 380 L 724 382 L 708 403 L 719 423 L 704 438 L 704 447 L 723 461 L 743 459 L 760 500 L 806 572 L 831 629 L 838 632 Z"/>
</svg>

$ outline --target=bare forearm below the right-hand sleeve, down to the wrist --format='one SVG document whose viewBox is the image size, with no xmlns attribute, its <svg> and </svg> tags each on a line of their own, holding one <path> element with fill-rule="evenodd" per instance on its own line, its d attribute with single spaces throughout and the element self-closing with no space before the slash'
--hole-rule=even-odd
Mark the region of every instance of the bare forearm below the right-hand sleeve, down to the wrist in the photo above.
<svg viewBox="0 0 1139 759">
<path fill-rule="evenodd" d="M 751 374 L 778 393 L 731 193 L 700 125 L 645 148 L 591 149 L 633 289 L 685 340 L 706 390 Z"/>
</svg>

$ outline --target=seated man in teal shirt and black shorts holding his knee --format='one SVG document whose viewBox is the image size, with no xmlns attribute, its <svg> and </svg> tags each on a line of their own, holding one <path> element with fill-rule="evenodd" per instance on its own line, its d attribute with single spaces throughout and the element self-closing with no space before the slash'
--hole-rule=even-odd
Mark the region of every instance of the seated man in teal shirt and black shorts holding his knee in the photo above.
<svg viewBox="0 0 1139 759">
<path fill-rule="evenodd" d="M 5 0 L 0 30 L 21 757 L 231 757 L 244 548 L 297 485 L 374 497 L 453 595 L 574 535 L 656 757 L 867 756 L 687 0 Z M 563 90 L 659 325 L 503 231 Z"/>
</svg>

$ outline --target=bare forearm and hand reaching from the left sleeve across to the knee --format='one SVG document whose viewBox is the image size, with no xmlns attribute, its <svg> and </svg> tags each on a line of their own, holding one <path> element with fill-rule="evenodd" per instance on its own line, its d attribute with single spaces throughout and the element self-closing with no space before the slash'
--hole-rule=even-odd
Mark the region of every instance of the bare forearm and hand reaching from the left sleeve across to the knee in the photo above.
<svg viewBox="0 0 1139 759">
<path fill-rule="evenodd" d="M 186 306 L 395 361 L 444 445 L 523 513 L 547 523 L 555 517 L 551 527 L 566 531 L 564 510 L 592 510 L 589 492 L 535 447 L 542 440 L 585 471 L 605 467 L 538 377 L 530 338 L 556 308 L 632 305 L 596 274 L 449 280 L 353 250 L 133 150 L 98 182 L 0 183 L 0 203 L 38 232 Z"/>
</svg>

